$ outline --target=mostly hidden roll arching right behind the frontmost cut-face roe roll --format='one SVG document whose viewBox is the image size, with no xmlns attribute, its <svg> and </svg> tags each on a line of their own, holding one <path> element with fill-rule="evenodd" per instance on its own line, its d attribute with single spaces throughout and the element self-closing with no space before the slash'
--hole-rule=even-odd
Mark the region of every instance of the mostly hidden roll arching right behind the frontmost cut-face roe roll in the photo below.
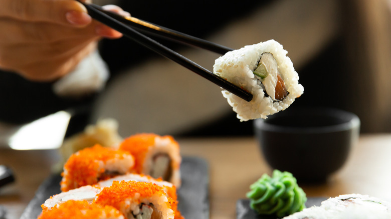
<svg viewBox="0 0 391 219">
<path fill-rule="evenodd" d="M 171 203 L 172 210 L 175 212 L 175 219 L 183 219 L 184 217 L 181 215 L 178 209 L 178 200 L 176 194 L 176 186 L 171 182 L 164 181 L 161 178 L 155 179 L 149 175 L 136 174 L 136 173 L 128 173 L 125 175 L 119 175 L 113 178 L 109 178 L 106 180 L 102 180 L 98 182 L 98 186 L 100 187 L 109 187 L 113 184 L 113 181 L 141 181 L 141 182 L 151 182 L 153 184 L 159 185 L 163 191 L 170 197 L 173 202 Z"/>
</svg>

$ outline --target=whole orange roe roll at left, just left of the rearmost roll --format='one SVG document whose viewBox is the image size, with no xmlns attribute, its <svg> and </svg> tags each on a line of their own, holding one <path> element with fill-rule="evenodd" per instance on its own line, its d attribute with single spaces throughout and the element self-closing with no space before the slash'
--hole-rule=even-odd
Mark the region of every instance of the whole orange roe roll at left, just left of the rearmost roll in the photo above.
<svg viewBox="0 0 391 219">
<path fill-rule="evenodd" d="M 99 180 L 131 172 L 134 157 L 128 151 L 96 144 L 72 154 L 64 164 L 61 190 L 68 191 Z"/>
</svg>

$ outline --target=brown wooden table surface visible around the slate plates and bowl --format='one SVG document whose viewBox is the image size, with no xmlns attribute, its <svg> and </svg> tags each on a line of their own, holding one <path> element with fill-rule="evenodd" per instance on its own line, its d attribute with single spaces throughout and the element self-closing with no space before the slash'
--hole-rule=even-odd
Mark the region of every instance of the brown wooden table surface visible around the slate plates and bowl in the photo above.
<svg viewBox="0 0 391 219">
<path fill-rule="evenodd" d="M 255 138 L 177 139 L 183 155 L 205 158 L 210 167 L 212 219 L 236 218 L 236 201 L 263 173 L 271 173 Z M 58 155 L 55 150 L 0 150 L 0 163 L 11 166 L 14 184 L 0 188 L 0 205 L 6 218 L 19 218 L 40 183 L 50 174 Z M 302 186 L 308 196 L 369 194 L 391 201 L 391 134 L 361 135 L 347 163 L 326 183 Z"/>
</svg>

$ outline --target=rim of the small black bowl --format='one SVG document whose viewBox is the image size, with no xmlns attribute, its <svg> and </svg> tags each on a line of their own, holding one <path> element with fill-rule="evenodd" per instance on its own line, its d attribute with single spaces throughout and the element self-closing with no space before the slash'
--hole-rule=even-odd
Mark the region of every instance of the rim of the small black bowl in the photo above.
<svg viewBox="0 0 391 219">
<path fill-rule="evenodd" d="M 263 118 L 255 119 L 254 120 L 255 131 L 259 129 L 259 130 L 267 130 L 267 131 L 283 132 L 283 133 L 329 133 L 329 132 L 338 132 L 338 131 L 345 131 L 349 129 L 359 128 L 360 126 L 360 119 L 356 114 L 338 108 L 302 107 L 302 108 L 294 108 L 291 110 L 289 110 L 288 108 L 286 110 L 287 111 L 284 112 L 283 115 L 276 113 L 270 115 L 266 119 Z M 267 119 L 269 118 L 278 117 L 278 116 L 297 115 L 297 113 L 324 114 L 327 116 L 334 116 L 336 118 L 341 118 L 346 121 L 338 124 L 331 124 L 325 126 L 308 126 L 308 127 L 284 126 L 284 125 L 271 124 L 267 122 Z"/>
</svg>

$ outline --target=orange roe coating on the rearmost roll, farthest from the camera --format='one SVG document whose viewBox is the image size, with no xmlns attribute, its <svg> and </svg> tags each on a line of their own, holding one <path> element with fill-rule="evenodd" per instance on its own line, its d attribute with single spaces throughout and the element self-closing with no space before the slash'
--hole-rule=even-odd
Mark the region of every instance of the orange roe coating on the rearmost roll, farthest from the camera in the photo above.
<svg viewBox="0 0 391 219">
<path fill-rule="evenodd" d="M 155 145 L 155 138 L 168 138 L 172 144 L 175 144 L 179 147 L 179 144 L 174 140 L 170 135 L 160 136 L 154 133 L 139 133 L 134 134 L 126 139 L 124 139 L 119 149 L 129 151 L 134 156 L 134 168 L 137 173 L 142 173 L 143 163 L 146 153 L 150 147 Z"/>
</svg>

